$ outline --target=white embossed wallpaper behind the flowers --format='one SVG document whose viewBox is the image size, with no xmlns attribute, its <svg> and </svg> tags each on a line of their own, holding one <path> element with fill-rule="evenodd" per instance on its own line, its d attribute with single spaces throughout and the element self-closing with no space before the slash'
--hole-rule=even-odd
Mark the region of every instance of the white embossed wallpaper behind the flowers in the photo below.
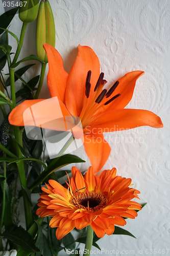
<svg viewBox="0 0 170 256">
<path fill-rule="evenodd" d="M 107 86 L 132 70 L 145 71 L 136 83 L 127 108 L 153 111 L 161 117 L 164 127 L 157 130 L 147 126 L 105 134 L 112 150 L 103 169 L 114 166 L 118 175 L 131 177 L 134 187 L 141 192 L 140 202 L 148 204 L 125 226 L 137 239 L 106 235 L 99 241 L 99 246 L 114 249 L 117 255 L 124 255 L 125 251 L 128 255 L 138 255 L 139 252 L 147 255 L 146 249 L 156 249 L 154 255 L 163 255 L 163 251 L 158 250 L 170 248 L 170 1 L 49 1 L 55 17 L 56 49 L 63 57 L 67 72 L 79 44 L 90 46 L 99 56 Z M 20 57 L 36 54 L 35 39 L 30 41 L 29 35 L 35 35 L 35 25 L 28 26 Z M 16 15 L 11 31 L 19 36 L 20 27 Z M 16 47 L 13 39 L 11 45 Z M 32 69 L 30 75 L 34 75 L 36 69 Z M 45 81 L 41 97 L 46 98 L 46 95 L 49 94 Z M 86 160 L 85 164 L 77 165 L 85 170 L 90 162 L 84 148 L 75 153 Z M 102 254 L 113 253 L 105 251 Z M 170 255 L 170 251 L 166 254 L 165 250 L 165 255 Z"/>
</svg>

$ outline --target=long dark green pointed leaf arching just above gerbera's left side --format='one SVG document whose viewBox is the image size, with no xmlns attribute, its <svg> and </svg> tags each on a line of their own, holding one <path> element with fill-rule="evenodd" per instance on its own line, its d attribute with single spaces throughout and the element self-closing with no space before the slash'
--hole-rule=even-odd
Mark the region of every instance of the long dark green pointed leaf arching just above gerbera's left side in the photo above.
<svg viewBox="0 0 170 256">
<path fill-rule="evenodd" d="M 70 163 L 82 163 L 85 162 L 80 157 L 74 156 L 74 155 L 64 155 L 58 158 L 55 158 L 51 161 L 49 166 L 47 166 L 47 170 L 44 170 L 42 174 L 33 182 L 30 189 L 37 187 L 45 178 L 55 172 L 55 170 L 70 164 Z"/>
</svg>

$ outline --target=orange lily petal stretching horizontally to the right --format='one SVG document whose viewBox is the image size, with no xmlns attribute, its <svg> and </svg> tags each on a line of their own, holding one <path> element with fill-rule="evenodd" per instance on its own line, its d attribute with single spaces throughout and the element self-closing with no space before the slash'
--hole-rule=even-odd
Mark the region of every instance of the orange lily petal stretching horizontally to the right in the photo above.
<svg viewBox="0 0 170 256">
<path fill-rule="evenodd" d="M 122 109 L 112 110 L 98 115 L 93 126 L 88 130 L 95 133 L 114 132 L 148 125 L 155 128 L 163 127 L 159 116 L 148 110 Z"/>
</svg>

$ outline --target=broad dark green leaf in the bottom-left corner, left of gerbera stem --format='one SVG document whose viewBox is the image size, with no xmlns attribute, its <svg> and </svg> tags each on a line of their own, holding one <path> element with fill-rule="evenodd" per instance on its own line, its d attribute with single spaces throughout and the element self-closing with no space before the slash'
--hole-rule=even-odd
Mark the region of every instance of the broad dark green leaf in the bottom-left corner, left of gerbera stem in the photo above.
<svg viewBox="0 0 170 256">
<path fill-rule="evenodd" d="M 27 252 L 38 252 L 39 249 L 35 246 L 35 241 L 28 231 L 21 226 L 12 225 L 3 233 L 3 237 L 11 240 L 14 244 L 21 246 Z"/>
</svg>

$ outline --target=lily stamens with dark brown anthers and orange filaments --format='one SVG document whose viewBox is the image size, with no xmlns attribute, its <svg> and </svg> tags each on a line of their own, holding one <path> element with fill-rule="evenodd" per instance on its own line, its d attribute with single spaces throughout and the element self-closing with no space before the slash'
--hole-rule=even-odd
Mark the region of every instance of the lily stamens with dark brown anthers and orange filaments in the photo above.
<svg viewBox="0 0 170 256">
<path fill-rule="evenodd" d="M 107 91 L 106 89 L 103 89 L 107 81 L 103 79 L 104 73 L 101 73 L 98 81 L 96 82 L 94 92 L 92 92 L 93 97 L 91 97 L 89 101 L 90 89 L 91 89 L 90 77 L 91 77 L 91 70 L 89 70 L 87 73 L 86 84 L 85 84 L 86 102 L 80 114 L 80 119 L 82 121 L 83 128 L 89 125 L 91 121 L 94 121 L 94 114 L 98 112 L 102 106 L 108 105 L 113 100 L 115 100 L 118 96 L 120 96 L 120 94 L 118 93 L 113 97 L 109 98 L 117 88 L 119 81 L 116 81 L 113 84 L 113 86 Z"/>
</svg>

